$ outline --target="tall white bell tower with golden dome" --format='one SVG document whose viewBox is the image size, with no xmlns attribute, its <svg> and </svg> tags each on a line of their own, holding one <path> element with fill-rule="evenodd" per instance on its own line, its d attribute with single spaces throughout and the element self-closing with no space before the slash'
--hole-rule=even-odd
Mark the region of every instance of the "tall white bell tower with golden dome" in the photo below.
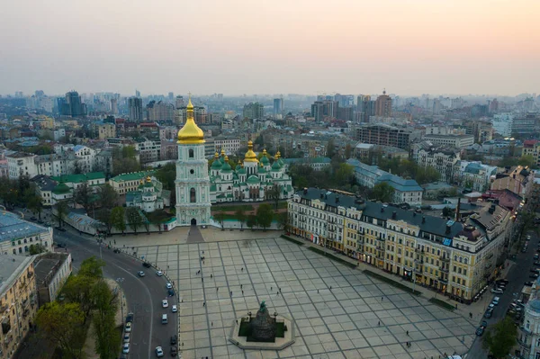
<svg viewBox="0 0 540 359">
<path fill-rule="evenodd" d="M 184 127 L 178 131 L 176 226 L 210 224 L 210 176 L 204 157 L 204 133 L 193 119 L 191 98 Z"/>
</svg>

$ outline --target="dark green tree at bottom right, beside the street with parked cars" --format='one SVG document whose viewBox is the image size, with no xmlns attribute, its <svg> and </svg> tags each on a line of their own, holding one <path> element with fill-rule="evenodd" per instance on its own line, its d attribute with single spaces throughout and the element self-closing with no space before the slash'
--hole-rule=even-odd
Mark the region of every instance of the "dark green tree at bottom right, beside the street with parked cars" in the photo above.
<svg viewBox="0 0 540 359">
<path fill-rule="evenodd" d="M 504 358 L 516 346 L 517 336 L 518 329 L 514 321 L 509 316 L 506 316 L 488 329 L 483 337 L 482 346 L 496 358 Z"/>
</svg>

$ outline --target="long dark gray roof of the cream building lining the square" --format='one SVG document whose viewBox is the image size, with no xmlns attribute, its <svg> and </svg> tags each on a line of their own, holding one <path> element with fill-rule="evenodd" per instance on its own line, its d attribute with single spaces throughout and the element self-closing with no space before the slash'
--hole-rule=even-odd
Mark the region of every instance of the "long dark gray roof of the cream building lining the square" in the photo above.
<svg viewBox="0 0 540 359">
<path fill-rule="evenodd" d="M 448 221 L 446 219 L 438 217 L 423 216 L 414 211 L 406 211 L 397 207 L 383 207 L 382 203 L 369 201 L 358 202 L 356 197 L 333 193 L 327 190 L 320 190 L 318 188 L 308 188 L 306 193 L 301 190 L 298 191 L 296 194 L 308 200 L 320 200 L 322 202 L 325 202 L 327 206 L 330 207 L 355 207 L 356 209 L 363 211 L 363 217 L 366 216 L 377 220 L 392 220 L 392 214 L 395 211 L 395 220 L 404 220 L 407 223 L 419 227 L 419 229 L 424 232 L 432 233 L 444 238 L 454 238 L 462 229 L 464 229 L 462 223 L 459 222 Z M 320 198 L 321 194 L 322 199 Z M 383 209 L 383 211 L 381 211 L 381 209 Z M 424 223 L 422 223 L 423 218 L 426 219 Z M 447 223 L 450 224 L 449 233 L 446 233 Z"/>
</svg>

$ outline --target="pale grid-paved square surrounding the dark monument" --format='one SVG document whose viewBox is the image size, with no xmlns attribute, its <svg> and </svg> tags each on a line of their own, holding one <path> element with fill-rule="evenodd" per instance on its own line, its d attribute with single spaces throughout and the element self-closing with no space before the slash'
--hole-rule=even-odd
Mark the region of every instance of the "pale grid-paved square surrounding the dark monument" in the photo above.
<svg viewBox="0 0 540 359">
<path fill-rule="evenodd" d="M 185 359 L 438 358 L 473 343 L 474 328 L 463 317 L 282 238 L 138 252 L 178 286 Z M 295 321 L 293 346 L 244 351 L 228 342 L 232 322 L 255 313 L 261 301 Z"/>
</svg>

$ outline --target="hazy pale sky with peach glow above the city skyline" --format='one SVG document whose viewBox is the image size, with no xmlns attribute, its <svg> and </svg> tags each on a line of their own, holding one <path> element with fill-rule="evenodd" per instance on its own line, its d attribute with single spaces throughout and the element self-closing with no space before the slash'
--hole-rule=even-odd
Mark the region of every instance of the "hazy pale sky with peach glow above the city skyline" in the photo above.
<svg viewBox="0 0 540 359">
<path fill-rule="evenodd" d="M 0 94 L 540 93 L 539 0 L 4 0 Z"/>
</svg>

